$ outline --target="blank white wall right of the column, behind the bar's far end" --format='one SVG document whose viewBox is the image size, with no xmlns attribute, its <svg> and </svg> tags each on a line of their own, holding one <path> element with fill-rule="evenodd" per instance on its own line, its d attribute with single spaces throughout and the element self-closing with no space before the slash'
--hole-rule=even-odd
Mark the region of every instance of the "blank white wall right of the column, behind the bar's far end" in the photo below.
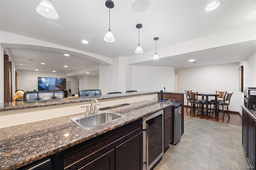
<svg viewBox="0 0 256 170">
<path fill-rule="evenodd" d="M 174 91 L 174 67 L 132 66 L 132 89 Z"/>
</svg>

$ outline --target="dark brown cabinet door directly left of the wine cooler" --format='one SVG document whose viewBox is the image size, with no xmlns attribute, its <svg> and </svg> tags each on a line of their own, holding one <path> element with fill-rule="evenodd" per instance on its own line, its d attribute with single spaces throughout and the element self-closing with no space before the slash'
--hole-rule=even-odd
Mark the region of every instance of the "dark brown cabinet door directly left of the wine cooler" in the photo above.
<svg viewBox="0 0 256 170">
<path fill-rule="evenodd" d="M 142 132 L 115 148 L 116 170 L 142 170 Z"/>
</svg>

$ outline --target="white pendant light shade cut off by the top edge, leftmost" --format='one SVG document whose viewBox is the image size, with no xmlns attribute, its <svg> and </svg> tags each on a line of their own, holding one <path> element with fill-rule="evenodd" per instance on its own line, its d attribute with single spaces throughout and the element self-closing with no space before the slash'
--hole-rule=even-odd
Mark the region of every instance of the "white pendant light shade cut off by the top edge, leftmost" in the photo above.
<svg viewBox="0 0 256 170">
<path fill-rule="evenodd" d="M 42 2 L 36 7 L 36 12 L 41 16 L 50 19 L 58 19 L 59 15 L 52 5 L 51 0 L 42 0 Z"/>
</svg>

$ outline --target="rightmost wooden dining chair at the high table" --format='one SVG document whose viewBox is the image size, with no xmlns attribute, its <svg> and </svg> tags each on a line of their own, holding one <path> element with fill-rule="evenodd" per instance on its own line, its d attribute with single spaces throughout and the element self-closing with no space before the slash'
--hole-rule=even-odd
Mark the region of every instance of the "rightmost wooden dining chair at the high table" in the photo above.
<svg viewBox="0 0 256 170">
<path fill-rule="evenodd" d="M 224 119 L 224 109 L 227 109 L 228 119 L 230 119 L 228 106 L 230 105 L 230 99 L 233 93 L 225 93 L 223 97 L 223 101 L 214 101 L 212 104 L 214 105 L 214 113 L 215 113 L 215 107 L 217 107 L 217 111 L 219 111 L 219 107 L 222 106 L 222 119 Z M 215 115 L 218 113 L 215 113 Z M 213 116 L 213 113 L 212 113 Z"/>
</svg>

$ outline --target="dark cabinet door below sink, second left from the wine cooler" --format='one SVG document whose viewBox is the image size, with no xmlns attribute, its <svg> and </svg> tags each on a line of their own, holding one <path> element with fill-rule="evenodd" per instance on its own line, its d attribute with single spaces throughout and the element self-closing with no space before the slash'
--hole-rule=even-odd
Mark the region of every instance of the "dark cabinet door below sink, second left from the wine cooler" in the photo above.
<svg viewBox="0 0 256 170">
<path fill-rule="evenodd" d="M 79 170 L 114 170 L 115 166 L 115 152 L 114 149 L 110 150 L 106 154 L 86 164 Z"/>
</svg>

